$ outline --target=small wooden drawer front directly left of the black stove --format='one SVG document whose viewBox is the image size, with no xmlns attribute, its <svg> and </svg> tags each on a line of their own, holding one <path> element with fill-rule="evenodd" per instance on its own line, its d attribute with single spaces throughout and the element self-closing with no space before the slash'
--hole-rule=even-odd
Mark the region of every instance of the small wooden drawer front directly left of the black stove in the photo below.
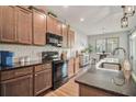
<svg viewBox="0 0 136 102">
<path fill-rule="evenodd" d="M 34 70 L 35 72 L 38 72 L 48 68 L 52 69 L 52 63 L 35 66 Z"/>
</svg>

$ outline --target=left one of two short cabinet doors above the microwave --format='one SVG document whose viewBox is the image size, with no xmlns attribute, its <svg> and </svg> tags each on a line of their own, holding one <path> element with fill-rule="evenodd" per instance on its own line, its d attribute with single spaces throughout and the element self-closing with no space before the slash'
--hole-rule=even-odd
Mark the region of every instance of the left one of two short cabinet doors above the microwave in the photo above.
<svg viewBox="0 0 136 102">
<path fill-rule="evenodd" d="M 54 18 L 47 16 L 47 32 L 54 33 Z"/>
</svg>

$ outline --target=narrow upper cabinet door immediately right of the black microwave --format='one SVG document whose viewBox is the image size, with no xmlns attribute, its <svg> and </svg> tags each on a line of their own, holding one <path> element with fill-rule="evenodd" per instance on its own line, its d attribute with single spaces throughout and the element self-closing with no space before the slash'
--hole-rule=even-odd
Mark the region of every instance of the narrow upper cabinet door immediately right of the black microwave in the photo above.
<svg viewBox="0 0 136 102">
<path fill-rule="evenodd" d="M 68 43 L 68 27 L 67 25 L 63 24 L 63 47 L 67 47 Z"/>
</svg>

